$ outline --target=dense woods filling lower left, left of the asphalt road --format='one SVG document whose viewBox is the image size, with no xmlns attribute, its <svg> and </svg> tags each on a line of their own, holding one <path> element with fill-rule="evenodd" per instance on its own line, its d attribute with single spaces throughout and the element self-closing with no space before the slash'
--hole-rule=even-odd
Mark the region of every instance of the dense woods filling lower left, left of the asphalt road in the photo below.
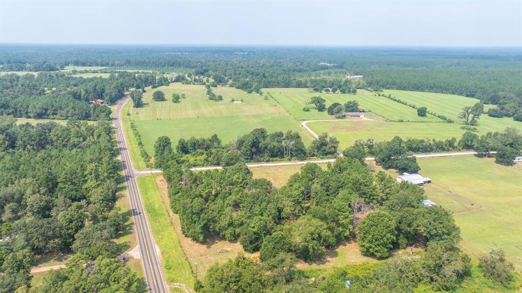
<svg viewBox="0 0 522 293">
<path fill-rule="evenodd" d="M 30 286 L 29 271 L 36 255 L 69 251 L 76 253 L 76 265 L 56 271 L 35 292 L 59 291 L 59 283 L 67 288 L 86 282 L 91 286 L 99 282 L 105 288 L 119 286 L 118 282 L 123 285 L 124 280 L 129 286 L 143 283 L 111 259 L 119 253 L 111 239 L 123 228 L 122 215 L 113 210 L 121 169 L 116 154 L 108 121 L 17 126 L 15 118 L 0 117 L 3 292 Z M 85 268 L 83 264 L 87 262 L 100 270 L 117 269 L 119 274 L 85 274 L 89 264 Z"/>
</svg>

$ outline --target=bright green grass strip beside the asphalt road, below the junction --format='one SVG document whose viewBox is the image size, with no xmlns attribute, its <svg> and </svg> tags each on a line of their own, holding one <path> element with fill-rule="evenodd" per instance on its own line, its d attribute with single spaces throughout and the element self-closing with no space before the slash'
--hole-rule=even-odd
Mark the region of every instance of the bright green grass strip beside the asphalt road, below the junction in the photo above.
<svg viewBox="0 0 522 293">
<path fill-rule="evenodd" d="M 161 251 L 164 277 L 167 282 L 184 283 L 193 287 L 191 267 L 161 199 L 156 185 L 157 177 L 161 175 L 142 176 L 137 180 L 152 236 Z"/>
</svg>

